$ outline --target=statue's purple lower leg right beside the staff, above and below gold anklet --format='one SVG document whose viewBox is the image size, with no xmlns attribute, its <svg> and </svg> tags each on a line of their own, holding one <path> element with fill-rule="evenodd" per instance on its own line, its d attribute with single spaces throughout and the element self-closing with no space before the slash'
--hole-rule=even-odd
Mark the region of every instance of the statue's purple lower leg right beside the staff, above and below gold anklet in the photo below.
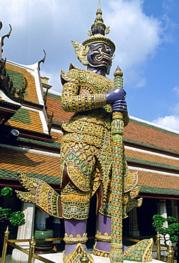
<svg viewBox="0 0 179 263">
<path fill-rule="evenodd" d="M 108 235 L 111 235 L 111 218 L 109 218 L 107 215 L 102 215 L 99 213 L 98 218 L 98 231 L 104 235 L 105 232 L 108 233 Z M 99 241 L 97 240 L 96 248 L 105 252 L 111 251 L 111 242 L 105 242 L 105 241 Z"/>
</svg>

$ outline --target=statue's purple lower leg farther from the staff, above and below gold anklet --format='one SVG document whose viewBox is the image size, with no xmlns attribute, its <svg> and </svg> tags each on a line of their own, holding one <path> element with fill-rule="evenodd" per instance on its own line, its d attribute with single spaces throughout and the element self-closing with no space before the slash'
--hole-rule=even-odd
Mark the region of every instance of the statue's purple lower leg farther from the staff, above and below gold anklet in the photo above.
<svg viewBox="0 0 179 263">
<path fill-rule="evenodd" d="M 76 237 L 78 234 L 81 236 L 87 231 L 87 219 L 77 220 L 77 219 L 65 219 L 65 233 L 67 235 L 73 235 Z M 65 254 L 71 253 L 77 244 L 66 244 L 65 245 Z M 82 247 L 86 247 L 85 244 L 82 244 Z"/>
</svg>

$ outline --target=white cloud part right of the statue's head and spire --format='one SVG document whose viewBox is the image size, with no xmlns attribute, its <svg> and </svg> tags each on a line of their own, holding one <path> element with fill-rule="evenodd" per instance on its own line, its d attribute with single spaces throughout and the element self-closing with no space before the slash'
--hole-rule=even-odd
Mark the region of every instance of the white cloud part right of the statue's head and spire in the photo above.
<svg viewBox="0 0 179 263">
<path fill-rule="evenodd" d="M 161 21 L 143 13 L 141 0 L 113 0 L 110 7 L 105 23 L 111 26 L 110 38 L 116 43 L 115 61 L 122 65 L 125 82 L 141 87 L 140 67 L 153 57 L 161 43 Z"/>
</svg>

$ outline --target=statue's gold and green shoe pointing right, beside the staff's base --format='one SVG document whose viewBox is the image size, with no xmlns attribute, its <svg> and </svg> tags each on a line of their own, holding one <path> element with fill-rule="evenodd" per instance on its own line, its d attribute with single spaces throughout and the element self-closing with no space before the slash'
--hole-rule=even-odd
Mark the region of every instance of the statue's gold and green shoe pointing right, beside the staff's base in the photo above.
<svg viewBox="0 0 179 263">
<path fill-rule="evenodd" d="M 152 261 L 153 239 L 141 240 L 124 251 L 124 259 L 134 262 Z"/>
</svg>

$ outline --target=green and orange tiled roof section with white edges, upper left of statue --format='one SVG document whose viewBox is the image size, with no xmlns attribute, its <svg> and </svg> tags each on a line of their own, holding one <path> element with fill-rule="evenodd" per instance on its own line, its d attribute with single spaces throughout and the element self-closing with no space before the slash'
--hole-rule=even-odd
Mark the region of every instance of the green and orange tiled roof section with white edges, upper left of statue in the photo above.
<svg viewBox="0 0 179 263">
<path fill-rule="evenodd" d="M 16 127 L 17 129 L 48 134 L 48 119 L 44 111 L 43 88 L 40 82 L 38 63 L 25 66 L 7 61 L 6 72 L 13 81 L 13 86 L 16 87 L 16 90 L 23 85 L 23 77 L 26 77 L 27 80 L 21 108 L 6 122 L 6 125 Z M 19 104 L 2 92 L 0 97 L 1 101 Z"/>
</svg>

